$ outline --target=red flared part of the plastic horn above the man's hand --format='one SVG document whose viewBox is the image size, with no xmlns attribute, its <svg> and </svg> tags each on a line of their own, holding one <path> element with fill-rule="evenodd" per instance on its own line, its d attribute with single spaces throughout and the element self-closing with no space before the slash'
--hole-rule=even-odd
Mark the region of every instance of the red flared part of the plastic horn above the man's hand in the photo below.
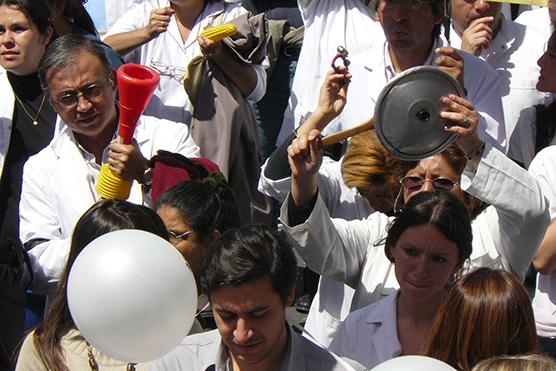
<svg viewBox="0 0 556 371">
<path fill-rule="evenodd" d="M 118 92 L 120 95 L 120 130 L 118 135 L 124 144 L 131 144 L 133 132 L 160 75 L 152 68 L 140 64 L 127 63 L 118 68 Z"/>
</svg>

